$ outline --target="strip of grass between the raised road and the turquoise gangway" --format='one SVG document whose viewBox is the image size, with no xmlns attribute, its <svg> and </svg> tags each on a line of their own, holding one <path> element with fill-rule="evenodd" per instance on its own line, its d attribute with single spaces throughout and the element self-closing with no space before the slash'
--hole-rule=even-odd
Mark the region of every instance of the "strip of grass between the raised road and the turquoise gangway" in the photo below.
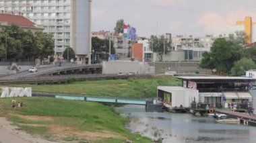
<svg viewBox="0 0 256 143">
<path fill-rule="evenodd" d="M 158 76 L 149 79 L 76 81 L 58 85 L 10 85 L 13 87 L 32 87 L 32 91 L 73 93 L 108 97 L 145 98 L 156 97 L 159 86 L 181 86 L 179 79 Z"/>
</svg>

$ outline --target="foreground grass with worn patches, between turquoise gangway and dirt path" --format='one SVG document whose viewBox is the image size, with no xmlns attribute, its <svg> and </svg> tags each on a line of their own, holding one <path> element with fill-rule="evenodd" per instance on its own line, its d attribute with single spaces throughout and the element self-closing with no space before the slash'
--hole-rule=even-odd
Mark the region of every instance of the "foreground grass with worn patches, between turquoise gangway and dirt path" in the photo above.
<svg viewBox="0 0 256 143">
<path fill-rule="evenodd" d="M 142 142 L 150 142 L 148 138 L 143 138 L 139 134 L 131 134 L 125 128 L 129 119 L 121 117 L 119 113 L 113 111 L 113 107 L 108 105 L 49 97 L 17 97 L 16 101 L 23 101 L 24 108 L 12 110 L 11 98 L 0 99 L 0 108 L 3 111 L 1 115 L 7 117 L 9 121 L 22 130 L 26 130 L 30 134 L 40 135 L 47 140 L 57 138 L 57 135 L 51 135 L 51 126 L 68 126 L 79 132 L 109 132 L 119 134 L 122 137 L 98 138 L 93 142 L 124 142 L 125 138 L 133 140 L 133 142 L 137 142 L 137 138 L 140 138 Z M 20 115 L 54 117 L 54 120 L 29 120 Z M 72 135 L 59 137 L 59 140 L 81 140 L 83 142 L 86 138 Z"/>
</svg>

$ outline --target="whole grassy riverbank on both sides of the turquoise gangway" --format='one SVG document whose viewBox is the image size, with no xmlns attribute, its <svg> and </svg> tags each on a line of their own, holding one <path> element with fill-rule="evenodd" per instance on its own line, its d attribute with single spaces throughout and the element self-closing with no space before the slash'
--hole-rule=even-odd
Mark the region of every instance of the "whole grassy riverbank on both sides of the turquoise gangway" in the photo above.
<svg viewBox="0 0 256 143">
<path fill-rule="evenodd" d="M 101 81 L 79 81 L 71 84 L 60 85 L 10 85 L 13 87 L 32 87 L 32 91 L 45 91 L 56 93 L 77 93 L 98 96 L 113 96 L 127 98 L 156 97 L 158 85 L 177 86 L 181 85 L 179 79 L 168 76 L 157 76 L 150 79 L 129 79 L 129 80 L 101 80 Z M 0 99 L 5 115 L 18 124 L 22 129 L 31 134 L 40 134 L 46 138 L 54 138 L 49 134 L 47 125 L 72 126 L 77 130 L 88 132 L 113 132 L 121 134 L 135 142 L 149 142 L 137 134 L 131 134 L 125 129 L 127 118 L 120 117 L 113 112 L 113 108 L 100 103 L 87 103 L 82 101 L 65 101 L 51 98 L 21 98 L 25 108 L 21 111 L 10 110 L 10 99 Z M 54 121 L 31 121 L 8 113 L 22 115 L 43 115 L 61 117 L 61 120 Z M 28 124 L 42 124 L 43 126 L 28 126 Z M 140 138 L 139 140 L 137 140 Z M 77 140 L 77 137 L 67 136 L 65 140 Z M 96 142 L 123 142 L 123 139 L 104 138 Z M 95 140 L 94 140 L 95 141 Z"/>
</svg>

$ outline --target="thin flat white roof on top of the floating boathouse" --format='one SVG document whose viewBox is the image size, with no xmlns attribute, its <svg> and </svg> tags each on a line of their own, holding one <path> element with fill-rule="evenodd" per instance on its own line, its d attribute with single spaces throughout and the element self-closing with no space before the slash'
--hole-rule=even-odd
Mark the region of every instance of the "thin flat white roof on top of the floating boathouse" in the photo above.
<svg viewBox="0 0 256 143">
<path fill-rule="evenodd" d="M 177 77 L 179 79 L 253 79 L 251 77 Z"/>
</svg>

